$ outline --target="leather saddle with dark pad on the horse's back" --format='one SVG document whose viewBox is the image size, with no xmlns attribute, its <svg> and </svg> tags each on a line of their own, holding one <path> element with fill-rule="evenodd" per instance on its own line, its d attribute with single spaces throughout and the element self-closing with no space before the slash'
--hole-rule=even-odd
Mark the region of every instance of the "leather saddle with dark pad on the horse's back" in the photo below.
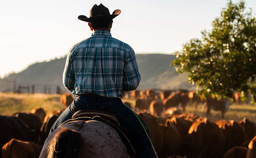
<svg viewBox="0 0 256 158">
<path fill-rule="evenodd" d="M 72 116 L 72 119 L 63 122 L 62 124 L 71 121 L 89 120 L 104 122 L 114 128 L 126 146 L 127 152 L 132 156 L 132 158 L 135 158 L 135 150 L 133 148 L 130 135 L 126 129 L 120 127 L 119 121 L 114 114 L 101 110 L 79 110 Z"/>
</svg>

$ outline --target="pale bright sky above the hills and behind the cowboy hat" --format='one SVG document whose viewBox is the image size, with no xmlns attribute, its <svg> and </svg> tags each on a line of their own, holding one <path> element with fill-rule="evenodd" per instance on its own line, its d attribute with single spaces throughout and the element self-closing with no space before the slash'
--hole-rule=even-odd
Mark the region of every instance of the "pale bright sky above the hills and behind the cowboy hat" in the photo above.
<svg viewBox="0 0 256 158">
<path fill-rule="evenodd" d="M 232 0 L 238 3 L 240 0 Z M 12 0 L 0 2 L 0 77 L 18 73 L 37 62 L 65 57 L 70 48 L 91 36 L 88 23 L 94 4 L 112 13 L 111 35 L 129 44 L 136 54 L 172 54 L 201 31 L 211 30 L 226 0 Z M 256 1 L 245 0 L 256 12 Z M 64 69 L 64 67 L 63 67 Z"/>
</svg>

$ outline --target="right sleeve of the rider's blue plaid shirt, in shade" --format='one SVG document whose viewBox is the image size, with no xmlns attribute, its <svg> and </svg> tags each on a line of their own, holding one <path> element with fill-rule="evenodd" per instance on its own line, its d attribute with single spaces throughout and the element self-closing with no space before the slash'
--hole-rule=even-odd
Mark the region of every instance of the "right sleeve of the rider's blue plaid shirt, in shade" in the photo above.
<svg viewBox="0 0 256 158">
<path fill-rule="evenodd" d="M 135 90 L 140 83 L 140 73 L 135 57 L 135 53 L 131 48 L 128 58 L 124 65 L 124 91 Z"/>
</svg>

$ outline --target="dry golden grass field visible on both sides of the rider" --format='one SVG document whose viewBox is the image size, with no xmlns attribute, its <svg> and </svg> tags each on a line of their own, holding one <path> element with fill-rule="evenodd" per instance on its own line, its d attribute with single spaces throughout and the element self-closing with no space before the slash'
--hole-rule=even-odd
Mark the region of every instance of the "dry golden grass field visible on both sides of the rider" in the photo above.
<svg viewBox="0 0 256 158">
<path fill-rule="evenodd" d="M 0 92 L 0 115 L 12 115 L 16 112 L 30 112 L 35 107 L 43 108 L 46 113 L 52 110 L 61 110 L 64 106 L 60 103 L 60 94 L 17 94 Z M 122 99 L 134 103 L 133 100 Z M 188 105 L 186 113 L 195 113 L 196 115 L 206 117 L 206 108 L 202 110 L 202 105 L 195 107 Z M 225 113 L 225 120 L 241 121 L 246 117 L 256 123 L 256 106 L 254 105 L 230 105 L 228 112 Z M 211 121 L 221 119 L 220 111 L 211 111 Z"/>
</svg>

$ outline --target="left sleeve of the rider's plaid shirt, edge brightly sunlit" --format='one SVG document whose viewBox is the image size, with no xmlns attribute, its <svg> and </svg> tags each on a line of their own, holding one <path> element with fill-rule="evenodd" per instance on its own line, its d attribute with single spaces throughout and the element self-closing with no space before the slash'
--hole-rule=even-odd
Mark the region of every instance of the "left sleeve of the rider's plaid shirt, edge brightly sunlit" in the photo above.
<svg viewBox="0 0 256 158">
<path fill-rule="evenodd" d="M 72 52 L 72 49 L 68 52 L 68 55 L 67 55 L 67 60 L 66 60 L 66 65 L 64 68 L 63 76 L 62 76 L 62 81 L 63 81 L 64 87 L 68 91 L 73 92 L 74 84 L 75 84 L 75 74 L 74 74 L 74 67 L 71 61 L 71 52 Z"/>
</svg>

